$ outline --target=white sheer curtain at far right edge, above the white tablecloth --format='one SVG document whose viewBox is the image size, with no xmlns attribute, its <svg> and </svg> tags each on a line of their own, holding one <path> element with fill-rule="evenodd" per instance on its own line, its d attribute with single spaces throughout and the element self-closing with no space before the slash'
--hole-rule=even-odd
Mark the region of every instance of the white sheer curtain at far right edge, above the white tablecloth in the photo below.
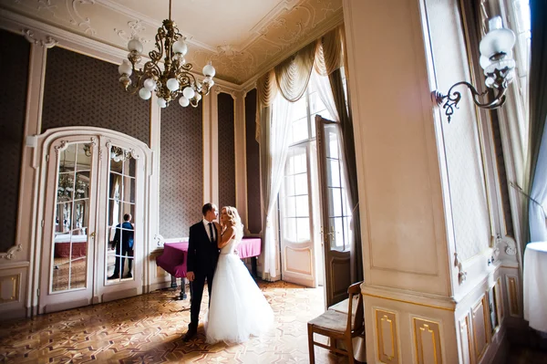
<svg viewBox="0 0 547 364">
<path fill-rule="evenodd" d="M 530 241 L 547 242 L 547 226 L 545 226 L 545 209 L 543 208 L 547 203 L 547 128 L 543 130 L 531 197 L 532 201 L 529 203 Z"/>
</svg>

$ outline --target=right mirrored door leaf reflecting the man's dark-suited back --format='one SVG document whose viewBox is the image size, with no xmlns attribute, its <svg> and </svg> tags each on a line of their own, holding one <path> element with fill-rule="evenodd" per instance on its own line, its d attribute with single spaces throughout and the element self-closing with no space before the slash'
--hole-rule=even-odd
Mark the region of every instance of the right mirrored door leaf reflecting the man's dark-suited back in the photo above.
<svg viewBox="0 0 547 364">
<path fill-rule="evenodd" d="M 98 266 L 98 295 L 103 300 L 142 292 L 144 226 L 144 161 L 123 140 L 106 140 L 104 194 L 99 208 L 101 265 Z"/>
</svg>

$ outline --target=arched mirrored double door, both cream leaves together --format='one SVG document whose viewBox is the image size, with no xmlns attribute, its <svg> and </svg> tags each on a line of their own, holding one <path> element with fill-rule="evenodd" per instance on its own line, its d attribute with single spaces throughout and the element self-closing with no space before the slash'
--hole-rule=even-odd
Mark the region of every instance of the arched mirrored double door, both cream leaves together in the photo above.
<svg viewBox="0 0 547 364">
<path fill-rule="evenodd" d="M 103 135 L 47 141 L 39 312 L 140 294 L 146 153 Z"/>
</svg>

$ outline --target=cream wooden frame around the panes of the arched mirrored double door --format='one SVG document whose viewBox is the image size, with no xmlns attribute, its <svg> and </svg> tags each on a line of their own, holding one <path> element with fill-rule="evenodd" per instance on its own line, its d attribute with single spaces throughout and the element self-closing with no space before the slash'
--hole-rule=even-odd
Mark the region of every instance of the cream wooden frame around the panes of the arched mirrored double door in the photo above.
<svg viewBox="0 0 547 364">
<path fill-rule="evenodd" d="M 99 303 L 105 302 L 112 299 L 122 298 L 124 296 L 135 296 L 142 293 L 143 286 L 147 286 L 150 277 L 148 275 L 148 262 L 146 257 L 150 254 L 150 213 L 146 213 L 150 209 L 150 176 L 152 174 L 151 168 L 151 155 L 152 152 L 148 146 L 135 138 L 132 138 L 126 134 L 120 133 L 114 130 L 106 130 L 101 128 L 93 127 L 67 127 L 67 128 L 57 128 L 46 130 L 43 134 L 36 136 L 36 153 L 34 155 L 37 173 L 39 175 L 39 183 L 36 186 L 38 191 L 38 199 L 36 201 L 37 208 L 37 219 L 36 219 L 36 258 L 32 264 L 34 269 L 38 272 L 37 275 L 33 277 L 33 286 L 37 289 L 32 291 L 32 301 L 36 302 L 38 307 L 38 313 L 43 313 L 46 309 L 46 304 L 53 304 L 52 310 L 67 309 L 69 307 L 84 306 L 86 300 L 88 303 Z M 94 145 L 94 159 L 92 164 L 97 169 L 94 172 L 94 175 L 97 176 L 96 186 L 90 194 L 90 201 L 95 197 L 96 198 L 96 215 L 95 217 L 95 237 L 93 242 L 91 239 L 88 240 L 88 282 L 91 281 L 91 285 L 88 285 L 88 288 L 85 290 L 77 291 L 80 294 L 77 294 L 77 306 L 70 304 L 67 301 L 72 301 L 74 297 L 67 297 L 63 299 L 61 295 L 67 294 L 55 294 L 55 298 L 52 298 L 52 295 L 49 295 L 49 275 L 51 272 L 51 264 L 47 263 L 50 259 L 43 257 L 45 254 L 51 256 L 51 247 L 52 245 L 45 244 L 47 241 L 50 243 L 52 236 L 52 226 L 51 219 L 53 214 L 51 212 L 52 205 L 55 204 L 54 197 L 57 195 L 57 192 L 51 186 L 57 184 L 55 179 L 57 178 L 57 170 L 54 174 L 50 172 L 50 165 L 56 164 L 56 156 L 49 155 L 51 151 L 55 151 L 53 148 L 55 146 L 66 145 L 67 142 L 90 142 Z M 131 155 L 134 156 L 137 161 L 139 161 L 139 167 L 136 171 L 136 205 L 139 210 L 138 219 L 139 222 L 136 224 L 136 235 L 140 236 L 141 239 L 140 246 L 136 242 L 135 249 L 135 275 L 134 279 L 131 281 L 122 281 L 119 284 L 115 285 L 105 285 L 105 266 L 104 258 L 102 257 L 102 252 L 105 249 L 105 238 L 106 238 L 106 225 L 103 224 L 106 222 L 106 213 L 100 213 L 101 208 L 104 210 L 106 204 L 106 199 L 101 198 L 100 196 L 106 196 L 106 192 L 100 192 L 101 185 L 104 185 L 105 181 L 108 183 L 108 172 L 104 172 L 104 166 L 106 161 L 109 158 L 109 148 L 107 143 L 114 145 L 119 145 L 130 149 Z M 60 150 L 60 149 L 59 149 Z M 98 152 L 97 152 L 98 151 Z M 97 156 L 98 158 L 96 158 Z M 52 161 L 50 163 L 49 161 Z M 103 170 L 101 170 L 101 168 Z M 93 170 L 93 169 L 92 169 Z M 102 175 L 102 178 L 99 178 Z M 106 175 L 106 179 L 104 178 Z M 55 192 L 55 193 L 52 193 Z M 102 201 L 97 201 L 98 199 Z M 54 206 L 55 209 L 55 206 Z M 102 216 L 102 217 L 101 217 Z M 46 221 L 49 220 L 49 221 Z M 50 225 L 50 226 L 47 226 Z M 91 222 L 89 225 L 89 235 L 93 232 L 90 231 L 92 228 Z M 102 243 L 95 243 L 101 242 Z M 102 250 L 101 250 L 102 249 Z M 95 259 L 97 257 L 97 259 Z M 94 261 L 98 261 L 97 264 L 93 264 Z M 102 265 L 102 266 L 101 266 Z M 139 266 L 139 268 L 137 268 Z M 137 272 L 139 270 L 139 272 Z M 86 297 L 84 297 L 86 296 Z M 48 312 L 51 311 L 46 309 Z"/>
</svg>

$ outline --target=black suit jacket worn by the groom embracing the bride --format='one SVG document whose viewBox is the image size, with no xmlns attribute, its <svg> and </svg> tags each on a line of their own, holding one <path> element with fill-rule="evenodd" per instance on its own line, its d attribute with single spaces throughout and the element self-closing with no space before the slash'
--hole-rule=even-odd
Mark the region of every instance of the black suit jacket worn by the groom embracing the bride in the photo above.
<svg viewBox="0 0 547 364">
<path fill-rule="evenodd" d="M 209 240 L 209 235 L 205 231 L 203 221 L 193 224 L 190 227 L 190 238 L 188 243 L 188 258 L 186 260 L 186 271 L 194 273 L 214 272 L 217 261 L 219 260 L 219 234 L 216 231 L 214 223 L 212 224 L 216 239 L 214 242 Z"/>
</svg>

